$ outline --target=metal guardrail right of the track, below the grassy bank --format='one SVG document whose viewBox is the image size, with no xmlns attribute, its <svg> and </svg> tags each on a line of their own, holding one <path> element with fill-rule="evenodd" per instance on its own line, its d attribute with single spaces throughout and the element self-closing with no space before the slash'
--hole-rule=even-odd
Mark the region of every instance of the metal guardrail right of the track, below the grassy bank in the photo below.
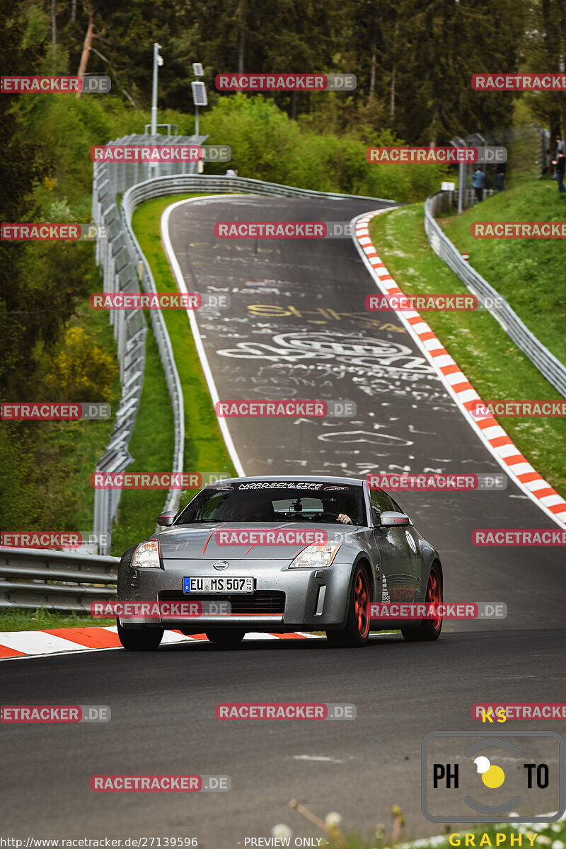
<svg viewBox="0 0 566 849">
<path fill-rule="evenodd" d="M 446 211 L 446 205 L 449 203 L 449 199 L 445 197 L 446 194 L 448 193 L 431 194 L 424 204 L 424 229 L 430 247 L 437 256 L 440 256 L 440 259 L 446 262 L 446 265 L 451 267 L 451 270 L 480 302 L 484 303 L 486 298 L 493 299 L 491 302 L 494 306 L 488 307 L 491 315 L 501 324 L 515 345 L 529 357 L 530 362 L 539 369 L 542 376 L 563 397 L 566 397 L 566 367 L 531 333 L 493 286 L 468 261 L 462 259 L 455 245 L 452 245 L 450 239 L 434 221 L 437 212 Z M 502 301 L 501 306 L 499 301 Z"/>
</svg>

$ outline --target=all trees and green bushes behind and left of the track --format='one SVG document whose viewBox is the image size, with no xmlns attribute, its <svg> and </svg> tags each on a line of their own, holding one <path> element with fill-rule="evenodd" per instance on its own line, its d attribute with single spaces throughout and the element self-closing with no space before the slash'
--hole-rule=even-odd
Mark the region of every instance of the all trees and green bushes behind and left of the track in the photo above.
<svg viewBox="0 0 566 849">
<path fill-rule="evenodd" d="M 566 0 L 0 0 L 0 10 L 3 74 L 112 80 L 108 95 L 2 95 L 3 222 L 89 220 L 89 145 L 143 132 L 154 42 L 164 57 L 160 121 L 193 132 L 192 64 L 202 63 L 201 128 L 231 144 L 243 176 L 423 200 L 439 166 L 378 171 L 365 162 L 368 143 L 443 144 L 532 120 L 566 132 L 564 92 L 470 85 L 481 71 L 564 70 Z M 349 72 L 357 87 L 221 94 L 215 76 L 227 71 Z M 113 364 L 70 326 L 98 280 L 92 245 L 2 242 L 0 280 L 3 396 L 103 401 Z M 84 374 L 102 378 L 85 383 Z M 14 475 L 24 474 L 20 438 L 30 433 L 5 428 L 0 459 Z"/>
</svg>

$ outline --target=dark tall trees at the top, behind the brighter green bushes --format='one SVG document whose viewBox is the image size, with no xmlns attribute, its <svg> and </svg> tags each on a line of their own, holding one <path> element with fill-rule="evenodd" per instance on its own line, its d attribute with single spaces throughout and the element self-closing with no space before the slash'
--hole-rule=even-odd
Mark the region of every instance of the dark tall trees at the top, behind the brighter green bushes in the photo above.
<svg viewBox="0 0 566 849">
<path fill-rule="evenodd" d="M 478 97 L 470 76 L 563 70 L 566 56 L 564 0 L 46 0 L 34 15 L 36 45 L 53 67 L 109 73 L 132 108 L 149 105 L 159 42 L 162 107 L 188 108 L 194 61 L 210 89 L 222 71 L 348 71 L 358 85 L 333 129 L 361 121 L 412 143 L 508 126 L 513 98 Z M 292 118 L 314 107 L 308 93 L 275 97 Z M 564 93 L 535 99 L 541 121 L 558 130 Z"/>
</svg>

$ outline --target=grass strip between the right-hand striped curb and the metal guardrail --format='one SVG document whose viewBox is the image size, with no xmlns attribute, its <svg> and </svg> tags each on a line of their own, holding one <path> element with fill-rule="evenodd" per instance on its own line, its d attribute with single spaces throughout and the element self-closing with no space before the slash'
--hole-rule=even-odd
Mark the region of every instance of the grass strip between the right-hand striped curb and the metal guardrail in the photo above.
<svg viewBox="0 0 566 849">
<path fill-rule="evenodd" d="M 466 294 L 460 278 L 430 248 L 423 220 L 422 204 L 373 218 L 370 235 L 378 255 L 406 294 Z M 423 318 L 479 396 L 560 400 L 489 312 L 427 312 Z M 501 419 L 500 424 L 530 464 L 566 498 L 566 420 Z"/>
</svg>

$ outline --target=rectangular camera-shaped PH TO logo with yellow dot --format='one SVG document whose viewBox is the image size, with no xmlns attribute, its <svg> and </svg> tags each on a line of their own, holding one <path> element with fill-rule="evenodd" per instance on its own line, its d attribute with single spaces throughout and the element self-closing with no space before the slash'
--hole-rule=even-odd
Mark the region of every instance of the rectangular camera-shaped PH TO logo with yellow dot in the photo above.
<svg viewBox="0 0 566 849">
<path fill-rule="evenodd" d="M 552 823 L 564 810 L 563 738 L 432 731 L 421 746 L 421 809 L 432 823 Z M 541 814 L 544 811 L 547 813 Z"/>
</svg>

